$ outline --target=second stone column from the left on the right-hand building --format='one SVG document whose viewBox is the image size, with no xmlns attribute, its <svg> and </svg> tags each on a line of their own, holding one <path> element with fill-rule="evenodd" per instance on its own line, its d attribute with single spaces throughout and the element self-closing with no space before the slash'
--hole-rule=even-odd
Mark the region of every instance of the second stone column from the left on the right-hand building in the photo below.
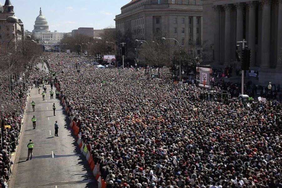
<svg viewBox="0 0 282 188">
<path fill-rule="evenodd" d="M 231 5 L 225 5 L 225 43 L 224 43 L 224 63 L 230 63 L 230 40 L 231 40 Z"/>
</svg>

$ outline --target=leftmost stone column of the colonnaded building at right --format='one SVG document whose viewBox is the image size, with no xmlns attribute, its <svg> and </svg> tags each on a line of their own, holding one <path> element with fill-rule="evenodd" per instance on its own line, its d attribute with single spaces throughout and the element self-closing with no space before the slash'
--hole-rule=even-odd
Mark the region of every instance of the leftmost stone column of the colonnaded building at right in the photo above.
<svg viewBox="0 0 282 188">
<path fill-rule="evenodd" d="M 216 64 L 220 64 L 220 12 L 222 7 L 214 6 L 214 60 Z"/>
</svg>

